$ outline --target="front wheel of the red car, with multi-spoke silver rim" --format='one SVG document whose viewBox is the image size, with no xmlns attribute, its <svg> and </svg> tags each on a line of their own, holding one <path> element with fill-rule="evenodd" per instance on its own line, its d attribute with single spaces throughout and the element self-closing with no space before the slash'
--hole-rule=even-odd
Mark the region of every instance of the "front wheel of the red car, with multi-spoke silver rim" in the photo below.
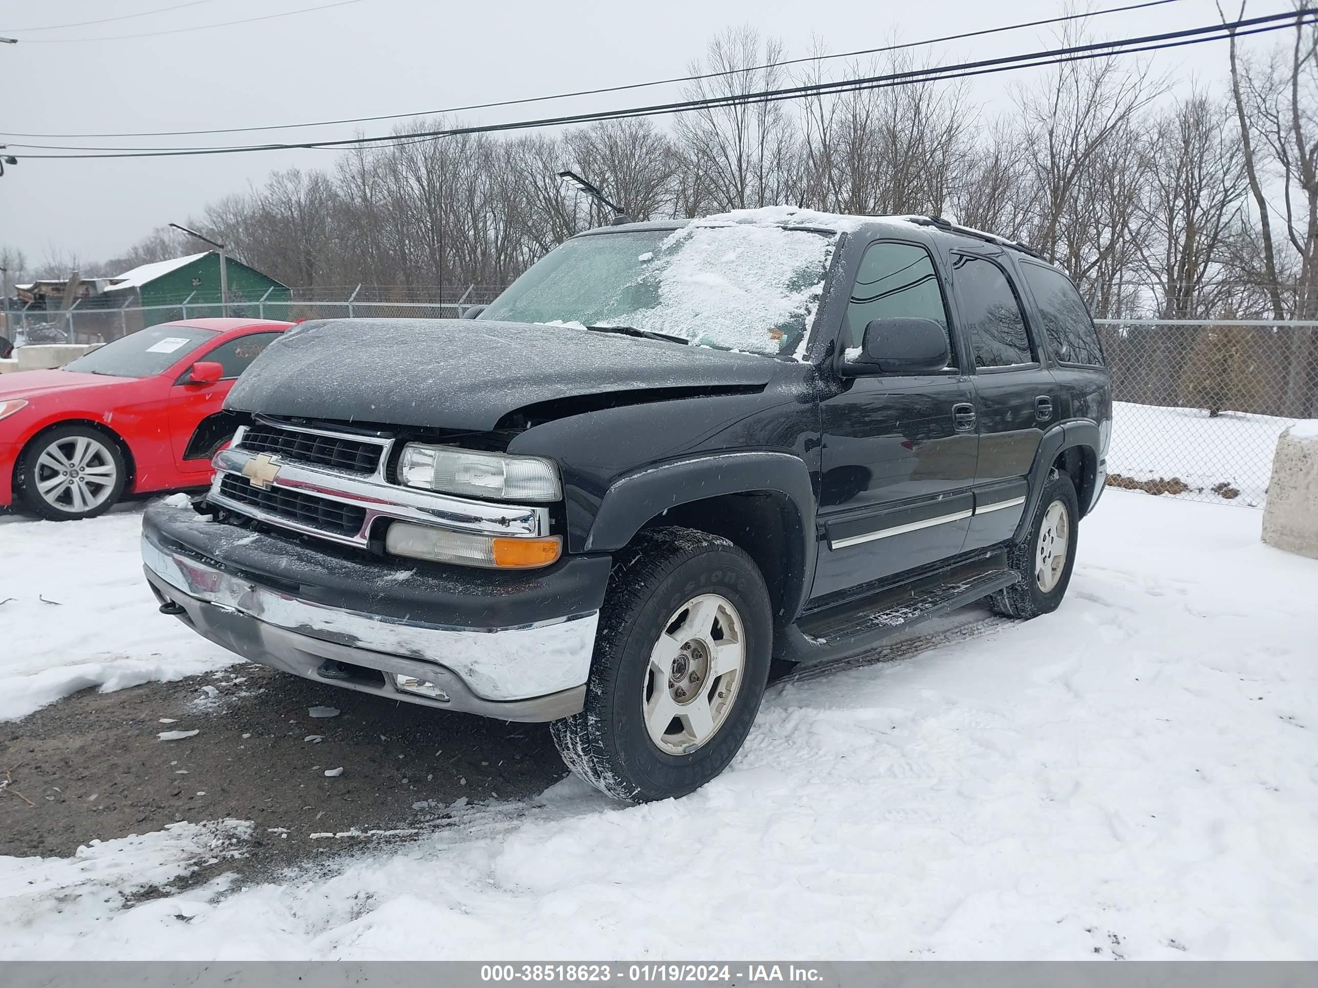
<svg viewBox="0 0 1318 988">
<path fill-rule="evenodd" d="M 95 518 L 119 501 L 128 464 L 119 443 L 91 425 L 59 425 L 18 458 L 18 499 L 51 522 Z"/>
</svg>

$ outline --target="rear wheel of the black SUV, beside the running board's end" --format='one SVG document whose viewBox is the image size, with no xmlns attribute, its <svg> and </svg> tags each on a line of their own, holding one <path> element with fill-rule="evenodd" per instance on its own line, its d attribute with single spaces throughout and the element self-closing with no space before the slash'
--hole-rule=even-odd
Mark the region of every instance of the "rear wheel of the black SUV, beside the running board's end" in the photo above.
<svg viewBox="0 0 1318 988">
<path fill-rule="evenodd" d="M 1008 565 L 1020 581 L 999 590 L 990 599 L 998 614 L 1008 618 L 1037 618 L 1050 614 L 1066 595 L 1075 565 L 1075 536 L 1079 502 L 1066 474 L 1054 474 L 1044 485 L 1029 532 L 1011 547 Z M 1064 531 L 1062 531 L 1064 527 Z M 1064 541 L 1065 545 L 1058 547 Z"/>
</svg>

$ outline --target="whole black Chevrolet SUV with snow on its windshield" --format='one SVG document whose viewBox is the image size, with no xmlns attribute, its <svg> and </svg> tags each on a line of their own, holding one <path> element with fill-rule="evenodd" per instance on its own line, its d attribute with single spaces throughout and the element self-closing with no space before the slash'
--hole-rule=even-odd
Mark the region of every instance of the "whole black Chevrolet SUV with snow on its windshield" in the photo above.
<svg viewBox="0 0 1318 988">
<path fill-rule="evenodd" d="M 1054 610 L 1111 389 L 1070 281 L 940 217 L 776 207 L 594 229 L 493 304 L 290 329 L 161 610 L 345 689 L 550 722 L 614 796 L 734 757 L 771 664 L 973 601 Z M 789 668 L 789 667 L 788 667 Z"/>
</svg>

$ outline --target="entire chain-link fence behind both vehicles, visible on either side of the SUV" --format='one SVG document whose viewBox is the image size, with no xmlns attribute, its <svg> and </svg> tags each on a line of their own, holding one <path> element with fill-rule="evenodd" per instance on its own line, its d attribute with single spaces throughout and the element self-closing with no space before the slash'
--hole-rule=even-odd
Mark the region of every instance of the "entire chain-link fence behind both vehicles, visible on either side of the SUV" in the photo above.
<svg viewBox="0 0 1318 988">
<path fill-rule="evenodd" d="M 316 286 L 231 296 L 248 319 L 452 319 L 502 286 Z M 142 327 L 220 315 L 216 304 L 11 310 L 14 343 L 104 343 Z M 1261 505 L 1277 436 L 1318 419 L 1318 321 L 1095 320 L 1112 373 L 1108 483 Z"/>
</svg>

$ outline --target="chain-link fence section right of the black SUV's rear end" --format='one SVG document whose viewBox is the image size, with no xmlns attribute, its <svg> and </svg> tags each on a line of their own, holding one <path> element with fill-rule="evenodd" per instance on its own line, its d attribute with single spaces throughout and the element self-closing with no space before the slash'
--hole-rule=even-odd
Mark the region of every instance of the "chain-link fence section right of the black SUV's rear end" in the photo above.
<svg viewBox="0 0 1318 988">
<path fill-rule="evenodd" d="M 1108 483 L 1261 505 L 1277 436 L 1318 419 L 1318 321 L 1095 321 L 1115 399 Z"/>
</svg>

